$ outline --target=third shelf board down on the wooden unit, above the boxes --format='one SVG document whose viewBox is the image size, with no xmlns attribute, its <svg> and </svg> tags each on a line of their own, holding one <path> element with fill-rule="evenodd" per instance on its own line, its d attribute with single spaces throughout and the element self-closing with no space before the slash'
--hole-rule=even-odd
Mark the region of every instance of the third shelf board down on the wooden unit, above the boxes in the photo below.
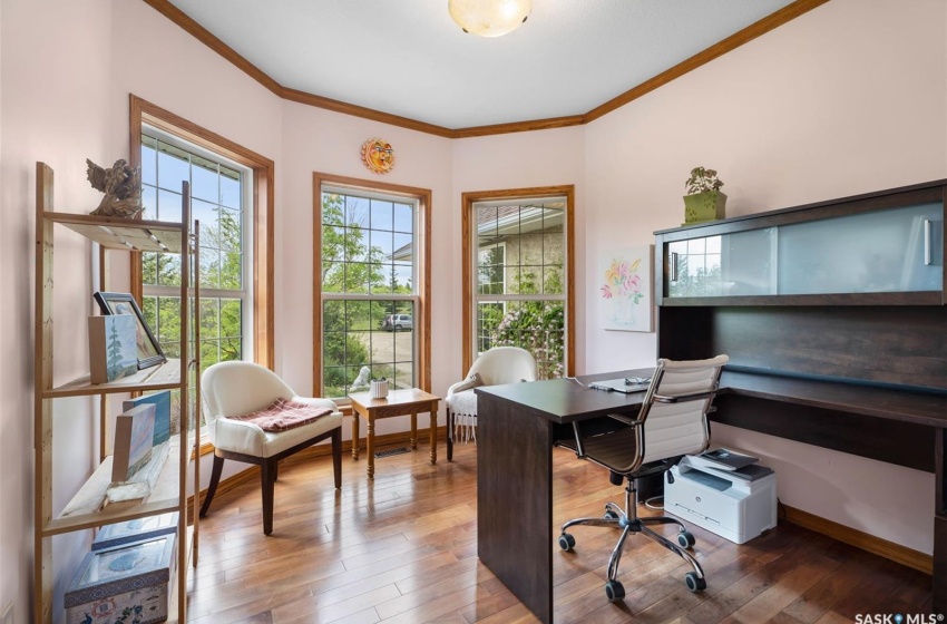
<svg viewBox="0 0 947 624">
<path fill-rule="evenodd" d="M 152 495 L 138 505 L 106 507 L 99 509 L 105 498 L 106 489 L 111 484 L 111 456 L 106 457 L 92 476 L 79 488 L 62 514 L 42 529 L 43 537 L 94 528 L 113 523 L 131 520 L 145 516 L 154 516 L 167 511 L 180 510 L 180 438 L 172 436 L 170 449 L 165 465 L 158 475 L 157 484 Z M 193 438 L 187 446 L 191 457 Z M 189 459 L 188 459 L 189 462 Z"/>
</svg>

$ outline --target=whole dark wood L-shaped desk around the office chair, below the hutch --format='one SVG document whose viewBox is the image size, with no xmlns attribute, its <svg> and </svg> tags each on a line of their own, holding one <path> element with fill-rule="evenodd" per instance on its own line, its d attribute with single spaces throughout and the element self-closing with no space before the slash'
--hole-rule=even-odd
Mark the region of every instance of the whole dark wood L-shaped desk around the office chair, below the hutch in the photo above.
<svg viewBox="0 0 947 624">
<path fill-rule="evenodd" d="M 579 379 L 647 374 L 637 370 Z M 539 620 L 551 622 L 556 429 L 606 413 L 636 413 L 643 393 L 589 390 L 560 379 L 478 388 L 477 396 L 477 554 Z M 715 406 L 716 422 L 935 472 L 934 611 L 947 612 L 947 519 L 941 511 L 947 396 L 725 370 Z"/>
</svg>

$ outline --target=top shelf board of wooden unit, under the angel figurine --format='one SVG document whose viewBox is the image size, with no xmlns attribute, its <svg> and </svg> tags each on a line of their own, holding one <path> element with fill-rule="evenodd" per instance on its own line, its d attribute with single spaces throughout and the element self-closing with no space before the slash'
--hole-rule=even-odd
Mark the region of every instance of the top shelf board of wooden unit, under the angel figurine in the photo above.
<svg viewBox="0 0 947 624">
<path fill-rule="evenodd" d="M 46 218 L 110 250 L 179 254 L 184 248 L 185 227 L 180 223 L 50 212 Z"/>
</svg>

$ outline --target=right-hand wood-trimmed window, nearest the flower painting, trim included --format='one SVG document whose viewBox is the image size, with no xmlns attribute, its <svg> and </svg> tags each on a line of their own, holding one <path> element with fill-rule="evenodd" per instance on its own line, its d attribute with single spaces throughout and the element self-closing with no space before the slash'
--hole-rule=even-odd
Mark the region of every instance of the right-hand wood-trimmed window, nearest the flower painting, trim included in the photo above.
<svg viewBox="0 0 947 624">
<path fill-rule="evenodd" d="M 463 194 L 465 368 L 514 345 L 550 379 L 574 362 L 572 187 L 529 191 Z"/>
</svg>

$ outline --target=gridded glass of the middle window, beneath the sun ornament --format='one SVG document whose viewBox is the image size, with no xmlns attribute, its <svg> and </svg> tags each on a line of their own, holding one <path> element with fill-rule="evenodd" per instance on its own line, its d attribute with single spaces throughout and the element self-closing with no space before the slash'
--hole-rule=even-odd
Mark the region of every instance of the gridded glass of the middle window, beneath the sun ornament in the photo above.
<svg viewBox="0 0 947 624">
<path fill-rule="evenodd" d="M 417 203 L 322 192 L 323 396 L 416 386 Z"/>
</svg>

